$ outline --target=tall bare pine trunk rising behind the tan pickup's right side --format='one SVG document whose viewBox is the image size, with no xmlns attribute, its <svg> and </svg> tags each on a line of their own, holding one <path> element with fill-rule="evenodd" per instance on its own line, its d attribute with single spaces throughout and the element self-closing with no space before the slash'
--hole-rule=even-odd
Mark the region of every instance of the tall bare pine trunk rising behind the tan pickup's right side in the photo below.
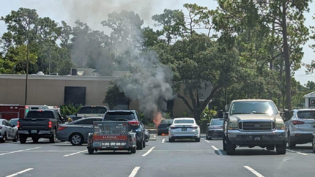
<svg viewBox="0 0 315 177">
<path fill-rule="evenodd" d="M 283 35 L 283 50 L 284 50 L 284 65 L 285 65 L 285 94 L 287 97 L 287 109 L 291 110 L 291 69 L 289 58 L 289 45 L 287 37 L 287 22 L 286 22 L 286 1 L 283 1 L 282 10 L 282 35 Z"/>
</svg>

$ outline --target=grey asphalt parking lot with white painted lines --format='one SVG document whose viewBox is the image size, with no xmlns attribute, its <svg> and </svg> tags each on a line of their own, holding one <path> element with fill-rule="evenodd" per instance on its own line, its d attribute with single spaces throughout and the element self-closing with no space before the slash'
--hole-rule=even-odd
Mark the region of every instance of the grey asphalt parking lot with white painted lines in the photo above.
<svg viewBox="0 0 315 177">
<path fill-rule="evenodd" d="M 154 138 L 154 135 L 151 135 Z M 312 145 L 297 145 L 285 155 L 260 147 L 237 148 L 228 156 L 222 140 L 176 140 L 157 136 L 146 142 L 135 154 L 128 151 L 87 152 L 86 144 L 72 146 L 69 142 L 51 144 L 40 139 L 37 144 L 7 141 L 0 144 L 0 176 L 242 176 L 242 177 L 310 177 L 314 176 Z"/>
</svg>

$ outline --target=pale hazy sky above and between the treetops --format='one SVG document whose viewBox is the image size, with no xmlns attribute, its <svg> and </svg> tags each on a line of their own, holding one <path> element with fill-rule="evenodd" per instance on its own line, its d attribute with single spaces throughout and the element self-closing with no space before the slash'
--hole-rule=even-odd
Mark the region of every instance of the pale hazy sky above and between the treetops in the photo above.
<svg viewBox="0 0 315 177">
<path fill-rule="evenodd" d="M 107 14 L 121 9 L 133 10 L 144 20 L 144 26 L 151 26 L 152 15 L 163 13 L 164 9 L 183 9 L 184 3 L 197 3 L 200 6 L 207 6 L 209 9 L 215 9 L 217 3 L 214 0 L 2 0 L 0 6 L 0 16 L 5 16 L 11 10 L 18 10 L 20 7 L 36 9 L 40 17 L 50 17 L 56 22 L 66 21 L 73 26 L 74 21 L 80 19 L 87 23 L 94 30 L 105 31 L 108 34 L 109 29 L 100 25 L 102 20 L 107 19 Z M 184 10 L 184 9 L 183 9 Z M 312 14 L 315 13 L 315 3 L 310 4 L 310 12 L 305 13 L 306 26 L 314 26 Z M 0 21 L 0 35 L 6 31 L 3 21 Z M 314 60 L 313 50 L 308 47 L 314 41 L 310 40 L 303 47 L 304 57 L 302 62 L 310 63 Z M 295 72 L 295 78 L 302 84 L 308 80 L 314 81 L 315 74 L 305 75 L 305 67 Z"/>
</svg>

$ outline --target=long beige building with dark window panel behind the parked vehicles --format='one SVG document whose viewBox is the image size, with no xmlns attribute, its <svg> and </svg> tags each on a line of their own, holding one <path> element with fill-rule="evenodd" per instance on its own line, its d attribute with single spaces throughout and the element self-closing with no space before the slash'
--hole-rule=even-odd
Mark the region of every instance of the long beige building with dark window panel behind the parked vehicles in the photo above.
<svg viewBox="0 0 315 177">
<path fill-rule="evenodd" d="M 117 77 L 105 76 L 28 76 L 27 105 L 60 106 L 65 103 L 106 105 L 103 103 L 110 81 Z M 25 103 L 26 75 L 0 74 L 0 104 Z M 138 101 L 130 101 L 126 108 L 139 111 Z M 188 108 L 176 98 L 168 104 L 175 117 Z"/>
</svg>

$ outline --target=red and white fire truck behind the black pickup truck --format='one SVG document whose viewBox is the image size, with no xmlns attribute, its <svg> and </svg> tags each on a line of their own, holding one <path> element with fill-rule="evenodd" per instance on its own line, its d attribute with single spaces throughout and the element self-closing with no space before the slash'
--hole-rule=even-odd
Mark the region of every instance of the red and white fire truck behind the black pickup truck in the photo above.
<svg viewBox="0 0 315 177">
<path fill-rule="evenodd" d="M 35 106 L 35 105 L 3 105 L 0 104 L 0 119 L 14 119 L 14 118 L 25 118 L 26 114 L 30 110 L 45 110 L 52 108 L 58 108 L 57 106 Z"/>
</svg>

